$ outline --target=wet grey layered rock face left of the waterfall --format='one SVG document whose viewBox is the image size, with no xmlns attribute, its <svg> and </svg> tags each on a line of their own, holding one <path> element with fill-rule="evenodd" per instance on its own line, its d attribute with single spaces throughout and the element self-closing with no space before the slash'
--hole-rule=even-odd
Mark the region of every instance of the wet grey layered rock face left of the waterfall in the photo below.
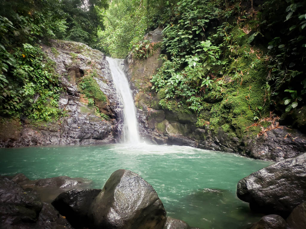
<svg viewBox="0 0 306 229">
<path fill-rule="evenodd" d="M 114 143 L 121 107 L 105 55 L 82 43 L 60 40 L 50 40 L 50 47 L 43 46 L 43 50 L 55 62 L 63 89 L 58 104 L 65 116 L 40 125 L 32 125 L 27 119 L 2 118 L 0 129 L 8 131 L 0 133 L 0 147 Z M 94 102 L 108 120 L 89 105 L 81 92 L 82 78 L 93 73 L 106 96 L 106 101 Z"/>
</svg>

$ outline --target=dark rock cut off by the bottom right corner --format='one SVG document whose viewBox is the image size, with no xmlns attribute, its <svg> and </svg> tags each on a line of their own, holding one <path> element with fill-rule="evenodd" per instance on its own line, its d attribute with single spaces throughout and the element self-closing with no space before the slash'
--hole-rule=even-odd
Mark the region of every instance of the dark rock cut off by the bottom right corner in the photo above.
<svg viewBox="0 0 306 229">
<path fill-rule="evenodd" d="M 287 218 L 287 223 L 293 229 L 306 228 L 306 202 L 301 203 L 293 209 Z"/>
</svg>

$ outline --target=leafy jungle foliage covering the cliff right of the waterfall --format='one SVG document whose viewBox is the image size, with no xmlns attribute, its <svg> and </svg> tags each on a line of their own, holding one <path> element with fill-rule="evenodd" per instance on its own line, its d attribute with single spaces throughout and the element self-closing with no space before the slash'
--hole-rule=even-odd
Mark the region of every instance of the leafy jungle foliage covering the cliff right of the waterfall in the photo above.
<svg viewBox="0 0 306 229">
<path fill-rule="evenodd" d="M 306 2 L 256 2 L 169 2 L 159 19 L 164 62 L 151 80 L 160 105 L 175 98 L 199 117 L 209 110 L 202 121 L 215 130 L 304 105 Z"/>
</svg>

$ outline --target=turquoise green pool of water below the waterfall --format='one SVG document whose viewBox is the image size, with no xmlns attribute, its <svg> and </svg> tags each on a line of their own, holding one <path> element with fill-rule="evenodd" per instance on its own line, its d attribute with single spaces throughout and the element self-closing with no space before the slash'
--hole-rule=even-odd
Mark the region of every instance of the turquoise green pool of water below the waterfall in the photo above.
<svg viewBox="0 0 306 229">
<path fill-rule="evenodd" d="M 271 162 L 185 146 L 23 147 L 0 149 L 0 174 L 24 173 L 31 180 L 84 177 L 102 188 L 117 169 L 149 182 L 168 216 L 192 227 L 242 229 L 259 219 L 236 197 L 237 182 Z"/>
</svg>

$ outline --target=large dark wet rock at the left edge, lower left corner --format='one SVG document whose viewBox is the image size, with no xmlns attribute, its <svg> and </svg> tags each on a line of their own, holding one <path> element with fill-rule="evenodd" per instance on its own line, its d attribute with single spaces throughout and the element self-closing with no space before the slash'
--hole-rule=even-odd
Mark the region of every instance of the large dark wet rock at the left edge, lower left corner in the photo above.
<svg viewBox="0 0 306 229">
<path fill-rule="evenodd" d="M 31 191 L 6 177 L 0 176 L 0 221 L 2 224 L 36 222 L 43 207 L 40 199 Z"/>
</svg>

